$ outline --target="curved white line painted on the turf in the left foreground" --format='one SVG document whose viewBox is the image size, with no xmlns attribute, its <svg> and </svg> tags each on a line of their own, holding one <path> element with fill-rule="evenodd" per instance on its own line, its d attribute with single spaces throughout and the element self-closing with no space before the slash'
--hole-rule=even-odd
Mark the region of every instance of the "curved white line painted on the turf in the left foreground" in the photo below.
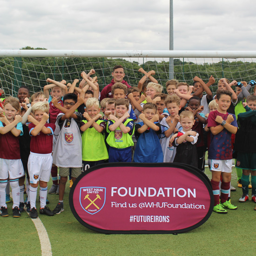
<svg viewBox="0 0 256 256">
<path fill-rule="evenodd" d="M 27 210 L 26 210 L 27 212 Z M 28 216 L 29 213 L 27 212 Z M 41 222 L 40 218 L 31 219 L 34 222 L 35 228 L 37 230 L 37 234 L 39 236 L 40 244 L 41 244 L 41 252 L 42 256 L 52 256 L 52 246 L 49 240 L 49 236 L 45 229 L 43 222 Z"/>
</svg>

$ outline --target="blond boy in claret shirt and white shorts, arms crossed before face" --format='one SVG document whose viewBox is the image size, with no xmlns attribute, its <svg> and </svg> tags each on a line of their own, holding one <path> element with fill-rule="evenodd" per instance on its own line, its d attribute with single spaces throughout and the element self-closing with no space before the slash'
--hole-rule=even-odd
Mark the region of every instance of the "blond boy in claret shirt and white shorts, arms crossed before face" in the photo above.
<svg viewBox="0 0 256 256">
<path fill-rule="evenodd" d="M 47 123 L 49 119 L 49 103 L 37 102 L 32 107 L 34 117 L 28 115 L 27 120 L 31 136 L 30 155 L 28 158 L 28 173 L 30 178 L 30 217 L 37 218 L 35 206 L 38 185 L 40 185 L 40 214 L 54 216 L 54 213 L 46 206 L 47 182 L 50 179 L 53 163 L 53 135 L 55 124 Z"/>
</svg>

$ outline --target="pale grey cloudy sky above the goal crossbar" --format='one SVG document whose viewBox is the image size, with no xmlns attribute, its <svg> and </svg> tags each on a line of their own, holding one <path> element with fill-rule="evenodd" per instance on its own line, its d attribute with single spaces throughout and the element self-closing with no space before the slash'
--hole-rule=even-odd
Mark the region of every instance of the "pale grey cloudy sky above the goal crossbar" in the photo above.
<svg viewBox="0 0 256 256">
<path fill-rule="evenodd" d="M 173 2 L 174 50 L 255 50 L 255 0 Z M 169 49 L 169 0 L 0 0 L 0 7 L 0 49 Z"/>
</svg>

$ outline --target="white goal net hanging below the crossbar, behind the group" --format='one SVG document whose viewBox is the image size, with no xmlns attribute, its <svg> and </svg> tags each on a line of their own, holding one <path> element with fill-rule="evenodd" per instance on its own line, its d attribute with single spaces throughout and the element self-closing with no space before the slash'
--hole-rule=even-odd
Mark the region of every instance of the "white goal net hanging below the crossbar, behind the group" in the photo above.
<svg viewBox="0 0 256 256">
<path fill-rule="evenodd" d="M 26 51 L 26 50 L 23 50 Z M 42 50 L 47 52 L 47 50 Z M 36 51 L 35 51 L 36 52 Z M 160 52 L 160 51 L 158 51 Z M 19 56 L 7 56 L 0 54 L 0 88 L 6 95 L 17 95 L 20 86 L 27 86 L 31 93 L 40 91 L 47 84 L 49 77 L 56 81 L 66 80 L 72 82 L 74 79 L 81 80 L 81 72 L 94 69 L 98 77 L 100 89 L 104 88 L 112 80 L 112 70 L 115 65 L 122 65 L 125 71 L 125 80 L 131 86 L 137 86 L 143 74 L 138 70 L 142 67 L 145 71 L 155 70 L 155 79 L 165 88 L 166 81 L 170 76 L 178 81 L 185 81 L 193 84 L 193 78 L 198 76 L 207 82 L 211 75 L 216 83 L 211 86 L 216 92 L 217 81 L 222 77 L 230 81 L 250 81 L 256 79 L 256 58 L 255 56 L 237 58 L 225 57 L 176 57 L 172 62 L 168 55 L 161 57 L 37 57 L 30 54 Z M 15 55 L 15 54 L 13 54 Z M 106 55 L 106 54 L 104 54 Z M 136 54 L 135 54 L 136 55 Z M 159 54 L 160 55 L 160 54 Z M 200 56 L 200 54 L 199 54 Z M 173 64 L 172 64 L 173 63 Z M 170 67 L 171 66 L 171 67 Z M 169 73 L 170 68 L 173 74 Z"/>
</svg>

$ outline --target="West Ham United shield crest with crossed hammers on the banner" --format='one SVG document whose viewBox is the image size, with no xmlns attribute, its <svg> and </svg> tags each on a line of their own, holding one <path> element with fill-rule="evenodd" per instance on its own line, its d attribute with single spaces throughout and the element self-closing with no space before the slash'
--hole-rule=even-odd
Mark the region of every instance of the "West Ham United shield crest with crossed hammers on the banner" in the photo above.
<svg viewBox="0 0 256 256">
<path fill-rule="evenodd" d="M 80 188 L 80 205 L 89 214 L 99 212 L 106 201 L 106 188 L 83 187 Z"/>
</svg>

